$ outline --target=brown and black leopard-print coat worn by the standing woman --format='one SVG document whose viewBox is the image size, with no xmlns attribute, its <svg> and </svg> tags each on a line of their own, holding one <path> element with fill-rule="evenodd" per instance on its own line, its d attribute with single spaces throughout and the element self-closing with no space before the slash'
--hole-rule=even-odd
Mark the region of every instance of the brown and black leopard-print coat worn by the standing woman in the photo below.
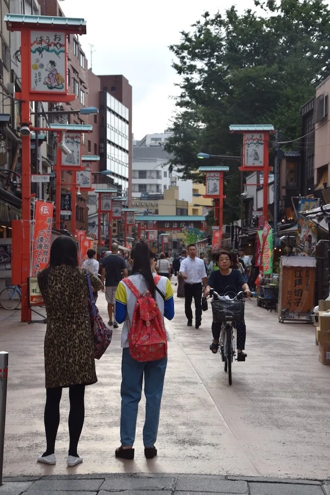
<svg viewBox="0 0 330 495">
<path fill-rule="evenodd" d="M 102 283 L 93 274 L 90 277 L 93 290 L 99 291 Z M 55 266 L 43 285 L 46 388 L 97 382 L 86 273 L 80 268 Z"/>
</svg>

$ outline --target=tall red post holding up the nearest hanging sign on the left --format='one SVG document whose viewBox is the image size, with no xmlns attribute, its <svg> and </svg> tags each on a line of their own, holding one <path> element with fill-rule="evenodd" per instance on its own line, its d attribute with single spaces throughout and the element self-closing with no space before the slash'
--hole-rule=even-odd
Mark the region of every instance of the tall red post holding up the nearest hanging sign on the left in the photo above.
<svg viewBox="0 0 330 495">
<path fill-rule="evenodd" d="M 22 55 L 22 92 L 21 92 L 21 124 L 30 124 L 30 32 L 21 33 Z M 31 134 L 22 136 L 22 309 L 21 321 L 31 321 L 31 310 L 28 305 L 28 277 L 30 276 L 31 259 Z"/>
</svg>

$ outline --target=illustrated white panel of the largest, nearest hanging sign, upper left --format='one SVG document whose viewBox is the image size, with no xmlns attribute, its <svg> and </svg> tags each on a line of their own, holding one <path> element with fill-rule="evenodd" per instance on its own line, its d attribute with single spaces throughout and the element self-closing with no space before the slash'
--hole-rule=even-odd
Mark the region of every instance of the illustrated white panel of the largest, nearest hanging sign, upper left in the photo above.
<svg viewBox="0 0 330 495">
<path fill-rule="evenodd" d="M 31 91 L 66 93 L 66 33 L 31 31 Z"/>
</svg>

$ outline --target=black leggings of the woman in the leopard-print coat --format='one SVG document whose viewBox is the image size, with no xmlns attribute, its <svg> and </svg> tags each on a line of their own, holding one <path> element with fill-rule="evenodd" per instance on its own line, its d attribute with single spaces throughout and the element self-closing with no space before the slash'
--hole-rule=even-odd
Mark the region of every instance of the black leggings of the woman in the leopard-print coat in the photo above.
<svg viewBox="0 0 330 495">
<path fill-rule="evenodd" d="M 59 425 L 59 403 L 62 396 L 62 387 L 46 389 L 45 406 L 45 430 L 47 451 L 44 455 L 50 455 L 55 450 L 55 440 Z M 77 447 L 85 419 L 85 385 L 72 385 L 69 387 L 70 414 L 69 414 L 69 455 L 78 457 Z"/>
</svg>

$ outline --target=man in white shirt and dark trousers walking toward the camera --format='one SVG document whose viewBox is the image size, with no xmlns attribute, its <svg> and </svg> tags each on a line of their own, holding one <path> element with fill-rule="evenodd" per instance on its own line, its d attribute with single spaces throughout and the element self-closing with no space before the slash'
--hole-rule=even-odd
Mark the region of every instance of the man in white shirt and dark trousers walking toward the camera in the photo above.
<svg viewBox="0 0 330 495">
<path fill-rule="evenodd" d="M 205 263 L 197 258 L 197 249 L 194 244 L 188 246 L 189 256 L 180 265 L 179 274 L 185 280 L 185 311 L 188 319 L 188 326 L 192 326 L 192 298 L 195 301 L 195 327 L 199 328 L 202 321 L 202 291 L 206 287 L 207 276 Z"/>
</svg>

